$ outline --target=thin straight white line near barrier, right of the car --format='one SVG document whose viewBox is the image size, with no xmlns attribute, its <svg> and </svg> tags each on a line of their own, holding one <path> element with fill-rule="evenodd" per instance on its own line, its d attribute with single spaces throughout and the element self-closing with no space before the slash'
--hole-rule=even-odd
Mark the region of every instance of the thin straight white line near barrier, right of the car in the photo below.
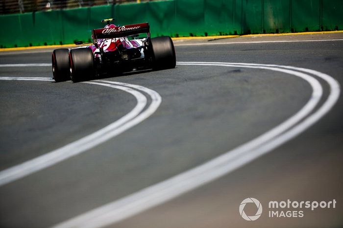
<svg viewBox="0 0 343 228">
<path fill-rule="evenodd" d="M 222 42 L 222 43 L 193 43 L 193 44 L 178 44 L 174 46 L 205 46 L 205 45 L 239 45 L 239 44 L 270 44 L 270 43 L 299 43 L 299 42 L 328 42 L 328 41 L 343 41 L 343 39 L 327 39 L 327 40 L 295 40 L 295 41 L 245 41 L 245 42 Z"/>
</svg>

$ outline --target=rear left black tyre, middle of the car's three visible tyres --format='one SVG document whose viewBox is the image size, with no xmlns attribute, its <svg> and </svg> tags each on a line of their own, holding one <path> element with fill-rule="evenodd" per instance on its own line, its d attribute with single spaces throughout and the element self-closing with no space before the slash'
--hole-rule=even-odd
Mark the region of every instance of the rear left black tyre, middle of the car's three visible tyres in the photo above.
<svg viewBox="0 0 343 228">
<path fill-rule="evenodd" d="M 94 77 L 94 55 L 89 48 L 70 50 L 72 81 L 87 81 Z"/>
</svg>

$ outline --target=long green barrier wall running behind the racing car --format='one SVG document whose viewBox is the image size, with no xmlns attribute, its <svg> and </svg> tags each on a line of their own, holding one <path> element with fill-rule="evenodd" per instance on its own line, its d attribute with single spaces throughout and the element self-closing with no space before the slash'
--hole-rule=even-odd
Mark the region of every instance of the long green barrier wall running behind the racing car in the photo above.
<svg viewBox="0 0 343 228">
<path fill-rule="evenodd" d="M 100 21 L 148 22 L 151 36 L 210 36 L 343 28 L 343 0 L 165 0 L 0 15 L 0 47 L 91 41 Z"/>
</svg>

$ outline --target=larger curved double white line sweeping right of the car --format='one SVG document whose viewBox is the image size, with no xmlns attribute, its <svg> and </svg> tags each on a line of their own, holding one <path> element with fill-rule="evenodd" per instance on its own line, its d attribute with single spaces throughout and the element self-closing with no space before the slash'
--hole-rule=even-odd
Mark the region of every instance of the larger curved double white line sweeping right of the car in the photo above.
<svg viewBox="0 0 343 228">
<path fill-rule="evenodd" d="M 204 65 L 204 66 L 223 66 L 232 67 L 234 64 L 216 64 L 216 63 L 178 63 L 179 65 Z M 207 161 L 193 169 L 176 175 L 163 182 L 156 183 L 144 188 L 136 193 L 123 197 L 109 204 L 95 208 L 89 212 L 81 214 L 75 218 L 60 223 L 54 228 L 98 228 L 122 221 L 140 212 L 143 212 L 153 206 L 163 204 L 181 194 L 191 191 L 205 183 L 212 182 L 233 170 L 242 167 L 248 162 L 257 159 L 270 152 L 272 149 L 280 146 L 282 143 L 296 137 L 301 132 L 308 129 L 317 122 L 324 114 L 337 102 L 340 94 L 340 85 L 338 82 L 327 74 L 321 72 L 294 68 L 288 66 L 273 67 L 258 64 L 236 64 L 234 67 L 244 68 L 261 68 L 276 70 L 289 73 L 310 83 L 313 93 L 307 104 L 291 118 L 271 129 L 269 132 L 257 137 L 221 156 Z M 285 68 L 287 68 L 285 70 Z M 295 71 L 297 70 L 297 71 Z M 313 114 L 314 105 L 318 104 L 322 94 L 322 88 L 317 79 L 302 72 L 311 73 L 325 80 L 330 86 L 330 95 L 321 107 Z M 308 115 L 304 117 L 304 115 Z M 295 122 L 296 120 L 300 122 Z"/>
</svg>

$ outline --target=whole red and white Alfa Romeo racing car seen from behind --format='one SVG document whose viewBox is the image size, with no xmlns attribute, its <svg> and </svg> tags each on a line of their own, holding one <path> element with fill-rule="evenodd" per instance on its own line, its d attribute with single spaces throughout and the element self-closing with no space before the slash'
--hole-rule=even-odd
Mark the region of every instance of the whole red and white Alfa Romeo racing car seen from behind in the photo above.
<svg viewBox="0 0 343 228">
<path fill-rule="evenodd" d="M 91 45 L 53 50 L 52 74 L 56 82 L 80 82 L 132 70 L 175 68 L 175 49 L 169 36 L 150 38 L 148 23 L 116 26 L 111 21 L 102 20 L 107 23 L 105 27 L 92 30 Z"/>
</svg>

